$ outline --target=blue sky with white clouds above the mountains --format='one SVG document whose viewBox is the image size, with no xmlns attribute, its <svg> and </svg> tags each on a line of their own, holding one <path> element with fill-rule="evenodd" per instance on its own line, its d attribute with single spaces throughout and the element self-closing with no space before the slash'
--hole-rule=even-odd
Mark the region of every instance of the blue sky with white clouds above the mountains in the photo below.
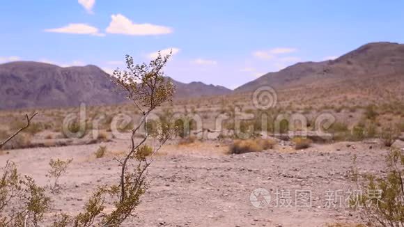
<svg viewBox="0 0 404 227">
<path fill-rule="evenodd" d="M 404 40 L 404 1 L 23 0 L 0 4 L 0 63 L 123 68 L 173 49 L 166 74 L 235 88 L 293 63 Z"/>
</svg>

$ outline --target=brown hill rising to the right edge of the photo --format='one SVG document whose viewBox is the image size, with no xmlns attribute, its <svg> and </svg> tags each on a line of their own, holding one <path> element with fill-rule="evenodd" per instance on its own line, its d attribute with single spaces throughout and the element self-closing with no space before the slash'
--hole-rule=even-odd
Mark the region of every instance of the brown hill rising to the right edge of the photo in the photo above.
<svg viewBox="0 0 404 227">
<path fill-rule="evenodd" d="M 349 89 L 404 89 L 404 45 L 373 42 L 333 61 L 305 62 L 291 65 L 279 72 L 270 72 L 235 89 L 235 93 L 255 91 L 260 86 L 276 90 L 288 88 L 341 87 Z M 352 91 L 352 90 L 351 90 Z M 316 92 L 311 90 L 311 92 Z"/>
</svg>

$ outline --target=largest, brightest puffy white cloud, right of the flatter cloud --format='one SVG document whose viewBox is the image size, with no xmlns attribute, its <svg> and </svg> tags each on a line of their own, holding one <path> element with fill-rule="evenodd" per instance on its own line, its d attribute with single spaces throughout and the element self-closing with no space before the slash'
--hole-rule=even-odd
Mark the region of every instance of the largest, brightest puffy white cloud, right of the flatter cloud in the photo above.
<svg viewBox="0 0 404 227">
<path fill-rule="evenodd" d="M 107 33 L 124 34 L 130 36 L 150 36 L 172 33 L 167 26 L 155 24 L 134 24 L 130 19 L 121 14 L 111 15 L 111 23 L 107 27 Z"/>
</svg>

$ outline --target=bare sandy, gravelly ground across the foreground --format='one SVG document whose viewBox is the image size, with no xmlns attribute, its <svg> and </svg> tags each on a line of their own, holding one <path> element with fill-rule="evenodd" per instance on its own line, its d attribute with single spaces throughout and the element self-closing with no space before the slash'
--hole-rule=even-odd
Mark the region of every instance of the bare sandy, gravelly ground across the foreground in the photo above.
<svg viewBox="0 0 404 227">
<path fill-rule="evenodd" d="M 63 190 L 54 196 L 53 204 L 54 208 L 75 214 L 96 185 L 118 182 L 119 166 L 112 159 L 114 155 L 95 159 L 93 153 L 98 146 L 10 150 L 0 156 L 0 164 L 4 166 L 10 159 L 21 173 L 46 185 L 49 159 L 73 158 L 68 173 L 61 178 Z M 110 152 L 126 147 L 116 141 L 107 146 Z M 349 177 L 352 156 L 357 155 L 360 172 L 380 174 L 387 154 L 386 148 L 375 144 L 345 142 L 297 151 L 277 146 L 244 155 L 225 155 L 225 150 L 226 146 L 215 143 L 166 146 L 148 173 L 150 189 L 143 196 L 138 217 L 127 220 L 124 226 L 361 223 L 357 212 L 345 208 L 345 198 L 354 185 Z M 251 192 L 259 188 L 267 190 L 271 197 L 270 204 L 263 208 L 251 203 Z M 303 193 L 300 190 L 311 191 L 309 199 L 296 197 Z M 256 198 L 269 201 L 262 194 Z"/>
</svg>

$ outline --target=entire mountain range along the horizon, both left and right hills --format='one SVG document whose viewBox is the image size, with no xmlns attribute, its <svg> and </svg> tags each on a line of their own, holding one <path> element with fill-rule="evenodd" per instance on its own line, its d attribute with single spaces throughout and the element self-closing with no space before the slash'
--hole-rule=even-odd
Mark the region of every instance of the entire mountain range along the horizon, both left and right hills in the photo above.
<svg viewBox="0 0 404 227">
<path fill-rule="evenodd" d="M 234 91 L 201 82 L 184 84 L 173 80 L 173 83 L 176 98 L 250 93 L 260 86 L 272 86 L 277 91 L 339 86 L 341 92 L 372 87 L 403 93 L 404 45 L 369 43 L 335 60 L 297 63 L 279 72 L 267 73 Z M 0 109 L 123 102 L 122 95 L 114 89 L 109 75 L 95 65 L 62 68 L 29 61 L 0 65 Z"/>
</svg>

